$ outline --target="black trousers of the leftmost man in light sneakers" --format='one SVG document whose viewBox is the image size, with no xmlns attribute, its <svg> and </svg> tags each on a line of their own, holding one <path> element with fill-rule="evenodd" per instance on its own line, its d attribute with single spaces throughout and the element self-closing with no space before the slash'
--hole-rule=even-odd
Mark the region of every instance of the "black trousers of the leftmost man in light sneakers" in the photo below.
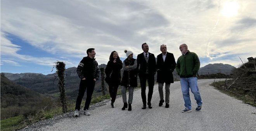
<svg viewBox="0 0 256 131">
<path fill-rule="evenodd" d="M 95 86 L 95 81 L 93 79 L 92 80 L 85 79 L 80 81 L 78 96 L 76 98 L 75 109 L 78 109 L 78 111 L 80 110 L 80 105 L 81 105 L 83 96 L 85 94 L 86 88 L 87 88 L 87 93 L 86 93 L 85 107 L 83 108 L 83 110 L 89 109 L 94 86 Z"/>
</svg>

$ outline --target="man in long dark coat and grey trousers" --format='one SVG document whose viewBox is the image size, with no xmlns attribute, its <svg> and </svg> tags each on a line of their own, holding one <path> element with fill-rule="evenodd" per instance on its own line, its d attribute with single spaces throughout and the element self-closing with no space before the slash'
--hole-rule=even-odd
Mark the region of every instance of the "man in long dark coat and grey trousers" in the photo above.
<svg viewBox="0 0 256 131">
<path fill-rule="evenodd" d="M 173 83 L 173 70 L 175 69 L 176 62 L 173 54 L 167 52 L 166 45 L 161 45 L 160 50 L 162 53 L 157 55 L 156 62 L 156 82 L 158 82 L 158 91 L 160 96 L 159 106 L 162 106 L 164 102 L 163 86 L 165 83 L 165 107 L 169 108 L 170 85 Z"/>
</svg>

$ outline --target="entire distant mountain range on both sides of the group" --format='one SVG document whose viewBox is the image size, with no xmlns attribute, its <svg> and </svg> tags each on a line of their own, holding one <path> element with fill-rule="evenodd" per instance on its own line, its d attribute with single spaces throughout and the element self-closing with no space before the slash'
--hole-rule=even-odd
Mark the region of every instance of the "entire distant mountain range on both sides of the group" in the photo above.
<svg viewBox="0 0 256 131">
<path fill-rule="evenodd" d="M 106 64 L 99 65 L 99 68 L 106 68 Z M 199 69 L 199 75 L 202 74 L 231 74 L 234 66 L 228 64 L 208 64 Z M 122 73 L 122 71 L 121 71 Z M 36 91 L 40 94 L 57 97 L 59 93 L 57 73 L 43 75 L 38 73 L 1 73 L 11 81 L 28 89 Z M 155 80 L 156 80 L 155 75 Z M 176 75 L 176 70 L 173 72 L 173 77 L 179 81 L 180 77 Z M 71 99 L 75 99 L 78 93 L 80 78 L 77 76 L 76 67 L 71 67 L 65 70 L 65 88 L 66 95 Z M 107 86 L 107 85 L 106 85 Z M 2 87 L 1 87 L 2 88 Z M 101 91 L 101 77 L 95 84 L 95 93 Z"/>
</svg>

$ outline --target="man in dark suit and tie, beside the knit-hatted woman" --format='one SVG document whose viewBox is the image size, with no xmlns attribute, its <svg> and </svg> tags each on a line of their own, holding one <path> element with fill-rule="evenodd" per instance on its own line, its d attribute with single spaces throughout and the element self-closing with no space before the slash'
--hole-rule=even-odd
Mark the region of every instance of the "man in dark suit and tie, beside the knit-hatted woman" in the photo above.
<svg viewBox="0 0 256 131">
<path fill-rule="evenodd" d="M 149 53 L 149 46 L 147 43 L 142 44 L 142 52 L 137 56 L 137 66 L 139 69 L 139 77 L 140 77 L 140 86 L 141 86 L 141 97 L 143 106 L 142 109 L 146 109 L 146 103 L 149 106 L 149 109 L 152 108 L 151 98 L 153 94 L 155 79 L 154 76 L 156 74 L 156 58 L 155 55 Z M 146 101 L 146 81 L 149 85 L 149 93 Z"/>
</svg>

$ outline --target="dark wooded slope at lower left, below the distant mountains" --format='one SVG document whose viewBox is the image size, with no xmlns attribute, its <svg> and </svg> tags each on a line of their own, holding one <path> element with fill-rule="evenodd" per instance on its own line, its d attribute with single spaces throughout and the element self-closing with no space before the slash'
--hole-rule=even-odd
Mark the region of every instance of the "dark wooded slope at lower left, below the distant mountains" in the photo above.
<svg viewBox="0 0 256 131">
<path fill-rule="evenodd" d="M 1 73 L 1 119 L 26 115 L 52 104 L 52 98 L 10 81 Z"/>
</svg>

